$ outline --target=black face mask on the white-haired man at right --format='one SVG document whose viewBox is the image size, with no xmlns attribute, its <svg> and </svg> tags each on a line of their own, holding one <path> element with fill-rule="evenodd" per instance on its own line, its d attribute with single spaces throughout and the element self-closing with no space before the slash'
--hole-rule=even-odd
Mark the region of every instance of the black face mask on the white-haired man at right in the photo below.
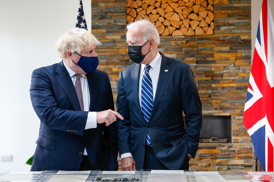
<svg viewBox="0 0 274 182">
<path fill-rule="evenodd" d="M 146 43 L 144 45 L 146 45 Z M 143 46 L 127 46 L 127 55 L 134 63 L 140 64 L 144 60 L 146 55 L 149 53 L 150 50 L 145 55 L 142 54 Z"/>
</svg>

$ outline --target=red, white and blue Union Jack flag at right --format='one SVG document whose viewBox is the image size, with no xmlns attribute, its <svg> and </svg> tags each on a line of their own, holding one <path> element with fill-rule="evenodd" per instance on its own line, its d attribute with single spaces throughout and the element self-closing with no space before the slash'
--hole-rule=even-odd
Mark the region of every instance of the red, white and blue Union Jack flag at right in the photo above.
<svg viewBox="0 0 274 182">
<path fill-rule="evenodd" d="M 250 71 L 244 126 L 264 171 L 274 169 L 274 26 L 263 0 Z"/>
</svg>

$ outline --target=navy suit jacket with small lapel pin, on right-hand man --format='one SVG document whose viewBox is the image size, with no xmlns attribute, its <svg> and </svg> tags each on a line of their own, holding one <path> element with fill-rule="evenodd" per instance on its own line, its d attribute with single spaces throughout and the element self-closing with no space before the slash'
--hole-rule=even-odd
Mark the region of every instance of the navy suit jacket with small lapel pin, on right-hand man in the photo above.
<svg viewBox="0 0 274 182">
<path fill-rule="evenodd" d="M 125 118 L 117 120 L 119 152 L 131 152 L 137 170 L 143 168 L 148 131 L 157 158 L 172 170 L 182 170 L 187 154 L 194 158 L 199 144 L 201 100 L 192 69 L 160 54 L 162 62 L 149 123 L 138 99 L 141 65 L 133 63 L 118 79 L 117 112 Z"/>
</svg>

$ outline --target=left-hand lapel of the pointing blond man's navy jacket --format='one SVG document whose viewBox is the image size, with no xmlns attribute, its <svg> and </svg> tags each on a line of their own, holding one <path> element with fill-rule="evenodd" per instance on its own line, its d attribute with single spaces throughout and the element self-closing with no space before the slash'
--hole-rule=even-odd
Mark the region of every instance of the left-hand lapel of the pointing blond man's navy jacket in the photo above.
<svg viewBox="0 0 274 182">
<path fill-rule="evenodd" d="M 67 72 L 66 67 L 63 64 L 63 61 L 57 64 L 57 68 L 55 70 L 56 74 L 56 80 L 66 93 L 69 101 L 71 102 L 74 110 L 80 111 L 81 106 L 79 104 L 79 100 L 75 91 L 75 87 L 73 85 L 73 82 Z"/>
</svg>

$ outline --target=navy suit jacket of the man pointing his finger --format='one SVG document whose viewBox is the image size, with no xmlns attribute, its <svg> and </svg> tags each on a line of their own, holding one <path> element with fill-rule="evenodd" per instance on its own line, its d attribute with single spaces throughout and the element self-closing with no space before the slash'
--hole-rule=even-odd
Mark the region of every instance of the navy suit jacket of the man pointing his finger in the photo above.
<svg viewBox="0 0 274 182">
<path fill-rule="evenodd" d="M 87 74 L 89 111 L 114 110 L 110 80 L 105 72 Z M 85 130 L 88 112 L 81 111 L 73 82 L 63 62 L 35 69 L 30 98 L 40 119 L 31 171 L 79 170 L 84 148 L 92 169 L 117 170 L 116 122 Z"/>
</svg>

